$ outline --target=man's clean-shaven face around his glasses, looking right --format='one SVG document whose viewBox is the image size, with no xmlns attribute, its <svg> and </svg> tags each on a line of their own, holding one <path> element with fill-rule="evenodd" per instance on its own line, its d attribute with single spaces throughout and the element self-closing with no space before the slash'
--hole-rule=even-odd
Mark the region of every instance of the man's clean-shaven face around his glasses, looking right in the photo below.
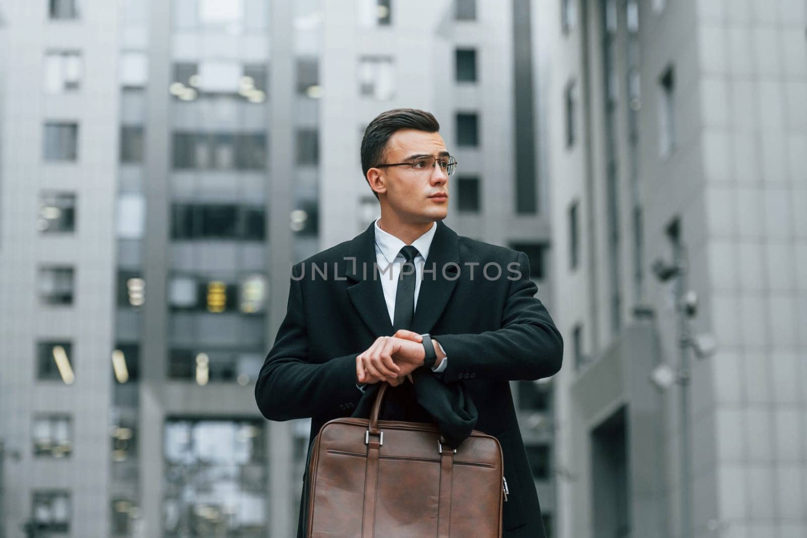
<svg viewBox="0 0 807 538">
<path fill-rule="evenodd" d="M 440 133 L 402 129 L 387 141 L 382 164 L 408 163 L 423 156 L 447 156 Z M 368 172 L 370 185 L 401 222 L 429 223 L 445 219 L 449 211 L 449 177 L 439 165 L 424 169 L 387 166 Z"/>
</svg>

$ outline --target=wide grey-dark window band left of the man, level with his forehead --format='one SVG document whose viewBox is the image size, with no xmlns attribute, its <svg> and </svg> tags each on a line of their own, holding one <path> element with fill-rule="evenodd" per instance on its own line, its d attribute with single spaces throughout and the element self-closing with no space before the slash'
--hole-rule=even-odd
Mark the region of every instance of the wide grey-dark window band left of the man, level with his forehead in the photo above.
<svg viewBox="0 0 807 538">
<path fill-rule="evenodd" d="M 175 132 L 174 169 L 266 169 L 266 136 Z"/>
</svg>

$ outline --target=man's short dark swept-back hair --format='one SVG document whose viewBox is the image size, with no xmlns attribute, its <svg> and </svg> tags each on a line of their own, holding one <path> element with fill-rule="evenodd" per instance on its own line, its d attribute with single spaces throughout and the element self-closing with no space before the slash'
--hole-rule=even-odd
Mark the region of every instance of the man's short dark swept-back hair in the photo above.
<svg viewBox="0 0 807 538">
<path fill-rule="evenodd" d="M 383 165 L 384 149 L 395 131 L 416 129 L 417 131 L 440 131 L 440 123 L 426 111 L 416 108 L 394 108 L 377 115 L 364 130 L 362 138 L 362 172 L 365 179 L 367 170 Z M 376 197 L 378 198 L 378 197 Z"/>
</svg>

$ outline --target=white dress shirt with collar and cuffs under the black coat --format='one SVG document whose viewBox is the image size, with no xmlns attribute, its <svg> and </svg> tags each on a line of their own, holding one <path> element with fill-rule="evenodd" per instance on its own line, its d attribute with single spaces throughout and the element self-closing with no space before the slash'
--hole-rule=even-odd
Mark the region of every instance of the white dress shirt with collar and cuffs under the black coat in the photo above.
<svg viewBox="0 0 807 538">
<path fill-rule="evenodd" d="M 375 220 L 374 226 L 375 258 L 378 263 L 381 287 L 384 290 L 384 302 L 387 303 L 387 314 L 390 315 L 391 323 L 395 323 L 395 295 L 398 293 L 398 278 L 401 273 L 401 265 L 406 261 L 406 258 L 400 252 L 401 248 L 406 246 L 406 243 L 378 227 L 378 219 Z M 432 246 L 435 231 L 437 231 L 437 223 L 433 223 L 428 231 L 412 241 L 412 246 L 417 248 L 417 256 L 413 260 L 415 264 L 415 310 L 417 310 L 417 297 L 420 294 L 420 283 L 423 282 L 423 268 L 426 265 L 426 258 L 429 257 L 429 248 Z M 391 268 L 389 268 L 390 265 L 392 265 Z M 440 345 L 440 343 L 437 342 L 437 345 Z M 445 350 L 442 346 L 440 346 L 440 350 L 445 355 Z M 440 365 L 433 367 L 432 371 L 440 373 L 445 370 L 447 365 L 448 357 L 443 357 Z M 364 385 L 364 383 L 362 385 L 357 384 L 359 390 L 362 390 Z"/>
</svg>

